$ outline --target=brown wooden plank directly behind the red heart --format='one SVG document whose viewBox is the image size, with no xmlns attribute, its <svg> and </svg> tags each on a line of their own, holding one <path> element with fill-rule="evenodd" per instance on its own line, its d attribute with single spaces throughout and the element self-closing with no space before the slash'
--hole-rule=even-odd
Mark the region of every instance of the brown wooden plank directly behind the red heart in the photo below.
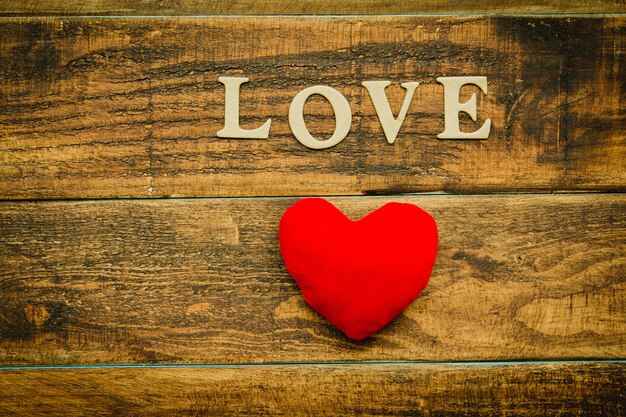
<svg viewBox="0 0 626 417">
<path fill-rule="evenodd" d="M 294 199 L 0 204 L 0 363 L 626 357 L 623 195 L 416 196 L 429 286 L 352 342 L 278 250 Z M 389 201 L 332 201 L 359 218 Z"/>
</svg>

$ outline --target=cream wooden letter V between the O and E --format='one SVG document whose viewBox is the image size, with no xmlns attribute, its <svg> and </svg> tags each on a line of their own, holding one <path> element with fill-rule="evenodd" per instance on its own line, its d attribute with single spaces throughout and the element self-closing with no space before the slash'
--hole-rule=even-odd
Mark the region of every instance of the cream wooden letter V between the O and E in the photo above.
<svg viewBox="0 0 626 417">
<path fill-rule="evenodd" d="M 363 87 L 367 88 L 367 91 L 370 93 L 372 103 L 374 103 L 374 108 L 378 114 L 378 119 L 387 137 L 387 142 L 394 143 L 398 132 L 400 132 L 400 127 L 404 122 L 406 113 L 409 110 L 411 100 L 413 100 L 415 89 L 419 83 L 412 82 L 401 84 L 402 88 L 406 90 L 406 96 L 404 96 L 404 103 L 402 103 L 402 108 L 400 109 L 400 113 L 398 113 L 397 119 L 393 117 L 387 94 L 385 94 L 385 88 L 391 84 L 391 81 L 363 81 L 361 84 Z"/>
</svg>

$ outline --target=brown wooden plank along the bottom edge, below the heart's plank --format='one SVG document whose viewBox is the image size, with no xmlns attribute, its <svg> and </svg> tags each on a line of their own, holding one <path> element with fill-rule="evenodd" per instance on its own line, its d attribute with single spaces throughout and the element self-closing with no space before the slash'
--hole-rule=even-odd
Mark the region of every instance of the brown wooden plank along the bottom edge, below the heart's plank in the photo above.
<svg viewBox="0 0 626 417">
<path fill-rule="evenodd" d="M 625 415 L 624 363 L 0 371 L 13 416 Z"/>
</svg>

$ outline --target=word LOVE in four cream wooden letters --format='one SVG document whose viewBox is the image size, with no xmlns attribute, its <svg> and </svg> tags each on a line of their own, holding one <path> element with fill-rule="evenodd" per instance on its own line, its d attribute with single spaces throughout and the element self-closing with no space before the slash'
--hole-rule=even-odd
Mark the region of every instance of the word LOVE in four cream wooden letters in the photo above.
<svg viewBox="0 0 626 417">
<path fill-rule="evenodd" d="M 272 119 L 268 119 L 256 129 L 242 129 L 239 126 L 239 89 L 249 81 L 244 77 L 220 77 L 219 82 L 226 87 L 224 128 L 217 132 L 220 138 L 229 139 L 268 139 Z M 444 87 L 444 131 L 437 135 L 439 139 L 487 139 L 491 129 L 491 120 L 487 119 L 480 129 L 474 132 L 461 132 L 459 113 L 467 113 L 476 121 L 476 94 L 464 103 L 459 102 L 461 87 L 472 84 L 478 86 L 487 94 L 487 77 L 439 77 L 437 82 Z M 387 137 L 387 142 L 394 143 L 402 123 L 413 100 L 415 89 L 419 82 L 402 83 L 406 90 L 402 108 L 397 117 L 394 117 L 387 99 L 385 89 L 390 81 L 364 81 L 365 87 L 372 99 L 378 119 Z M 331 104 L 335 113 L 335 131 L 325 140 L 318 140 L 311 135 L 304 122 L 304 105 L 309 97 L 319 94 Z M 300 143 L 311 149 L 326 149 L 337 145 L 350 132 L 352 126 L 352 110 L 348 100 L 337 90 L 326 85 L 316 85 L 300 91 L 289 107 L 289 126 L 293 135 Z"/>
</svg>

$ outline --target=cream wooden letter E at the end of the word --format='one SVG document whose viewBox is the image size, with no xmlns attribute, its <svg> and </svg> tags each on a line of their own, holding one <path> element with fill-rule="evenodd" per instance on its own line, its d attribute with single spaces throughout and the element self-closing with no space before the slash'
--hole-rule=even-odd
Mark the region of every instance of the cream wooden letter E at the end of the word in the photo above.
<svg viewBox="0 0 626 417">
<path fill-rule="evenodd" d="M 487 139 L 491 120 L 487 119 L 475 132 L 461 132 L 459 128 L 459 112 L 467 113 L 476 121 L 476 94 L 472 94 L 465 103 L 459 103 L 459 93 L 465 84 L 478 86 L 487 94 L 487 77 L 439 77 L 437 82 L 443 84 L 445 129 L 437 135 L 439 139 Z"/>
</svg>

